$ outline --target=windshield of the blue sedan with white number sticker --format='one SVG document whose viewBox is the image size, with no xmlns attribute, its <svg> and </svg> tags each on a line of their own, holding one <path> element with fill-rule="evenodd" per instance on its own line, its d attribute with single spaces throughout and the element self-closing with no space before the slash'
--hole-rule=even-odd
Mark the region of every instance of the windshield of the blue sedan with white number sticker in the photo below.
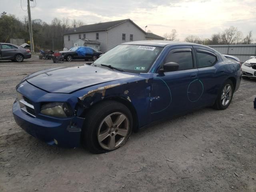
<svg viewBox="0 0 256 192">
<path fill-rule="evenodd" d="M 154 46 L 118 45 L 98 58 L 94 64 L 98 67 L 101 64 L 111 65 L 130 73 L 145 73 L 162 49 Z"/>
</svg>

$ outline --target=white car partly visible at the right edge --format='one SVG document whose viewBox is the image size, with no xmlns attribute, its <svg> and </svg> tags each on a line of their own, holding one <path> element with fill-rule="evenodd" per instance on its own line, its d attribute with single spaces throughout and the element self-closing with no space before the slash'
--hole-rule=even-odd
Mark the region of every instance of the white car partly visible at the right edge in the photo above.
<svg viewBox="0 0 256 192">
<path fill-rule="evenodd" d="M 256 56 L 251 56 L 251 59 L 242 64 L 242 78 L 256 78 Z"/>
</svg>

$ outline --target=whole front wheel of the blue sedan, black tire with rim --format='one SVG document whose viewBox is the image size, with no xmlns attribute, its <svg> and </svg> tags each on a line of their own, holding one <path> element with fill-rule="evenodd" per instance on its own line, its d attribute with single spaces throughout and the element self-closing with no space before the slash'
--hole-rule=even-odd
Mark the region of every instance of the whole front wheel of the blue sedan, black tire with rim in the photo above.
<svg viewBox="0 0 256 192">
<path fill-rule="evenodd" d="M 118 120 L 122 123 L 116 127 Z M 110 123 L 112 121 L 113 124 Z M 82 143 L 94 154 L 115 150 L 128 140 L 132 125 L 132 114 L 124 104 L 111 100 L 101 102 L 86 114 Z"/>
</svg>

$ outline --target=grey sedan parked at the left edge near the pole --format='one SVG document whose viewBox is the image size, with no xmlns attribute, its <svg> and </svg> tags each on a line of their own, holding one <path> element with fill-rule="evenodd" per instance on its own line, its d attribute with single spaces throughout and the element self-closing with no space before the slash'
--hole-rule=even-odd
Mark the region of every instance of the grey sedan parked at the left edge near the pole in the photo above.
<svg viewBox="0 0 256 192">
<path fill-rule="evenodd" d="M 31 58 L 30 50 L 10 43 L 0 43 L 0 60 L 22 62 Z"/>
</svg>

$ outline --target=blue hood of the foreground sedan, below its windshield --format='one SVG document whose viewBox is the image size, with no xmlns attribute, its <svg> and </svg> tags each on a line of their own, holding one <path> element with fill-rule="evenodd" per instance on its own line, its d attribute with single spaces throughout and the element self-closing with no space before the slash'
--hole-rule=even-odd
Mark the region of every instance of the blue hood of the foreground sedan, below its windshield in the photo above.
<svg viewBox="0 0 256 192">
<path fill-rule="evenodd" d="M 71 93 L 82 88 L 134 75 L 94 66 L 42 70 L 26 78 L 30 84 L 52 93 Z"/>
</svg>

